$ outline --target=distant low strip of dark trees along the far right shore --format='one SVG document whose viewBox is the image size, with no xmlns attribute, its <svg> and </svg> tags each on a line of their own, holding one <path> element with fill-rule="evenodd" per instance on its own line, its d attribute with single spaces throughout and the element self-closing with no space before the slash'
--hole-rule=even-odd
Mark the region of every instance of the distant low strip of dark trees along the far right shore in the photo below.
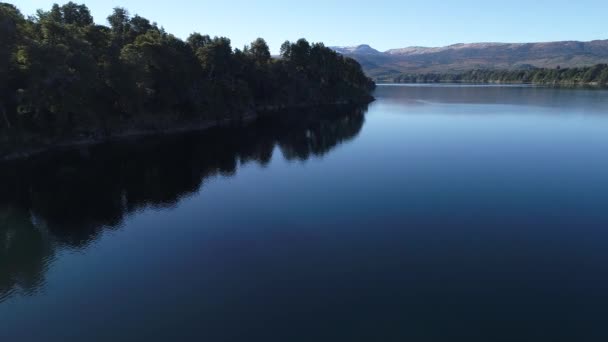
<svg viewBox="0 0 608 342">
<path fill-rule="evenodd" d="M 395 83 L 530 83 L 608 86 L 608 64 L 582 68 L 471 70 L 463 73 L 400 75 Z"/>
</svg>

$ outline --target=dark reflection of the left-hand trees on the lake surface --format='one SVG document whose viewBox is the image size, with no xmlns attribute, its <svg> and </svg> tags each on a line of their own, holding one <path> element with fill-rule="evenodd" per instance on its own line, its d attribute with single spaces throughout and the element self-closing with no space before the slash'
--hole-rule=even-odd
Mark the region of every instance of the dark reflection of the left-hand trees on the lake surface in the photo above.
<svg viewBox="0 0 608 342">
<path fill-rule="evenodd" d="M 300 110 L 203 134 L 45 155 L 0 169 L 0 302 L 44 286 L 58 249 L 84 249 L 146 207 L 173 207 L 215 175 L 323 156 L 356 137 L 367 107 Z"/>
</svg>

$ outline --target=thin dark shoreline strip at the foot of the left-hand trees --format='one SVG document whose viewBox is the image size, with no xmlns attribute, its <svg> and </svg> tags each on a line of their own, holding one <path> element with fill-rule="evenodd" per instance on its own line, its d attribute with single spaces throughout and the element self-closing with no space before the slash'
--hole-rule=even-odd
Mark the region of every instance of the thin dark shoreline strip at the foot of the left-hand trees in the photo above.
<svg viewBox="0 0 608 342">
<path fill-rule="evenodd" d="M 328 104 L 295 104 L 295 105 L 268 105 L 259 106 L 255 110 L 243 111 L 243 114 L 235 118 L 225 118 L 220 120 L 205 120 L 191 121 L 181 124 L 175 124 L 169 128 L 158 129 L 142 129 L 134 128 L 127 129 L 123 132 L 110 134 L 105 136 L 95 136 L 86 138 L 68 138 L 60 141 L 51 142 L 49 144 L 41 144 L 38 147 L 25 148 L 22 150 L 2 153 L 0 152 L 0 163 L 7 163 L 19 160 L 25 160 L 44 153 L 57 152 L 76 147 L 90 147 L 104 143 L 127 141 L 131 139 L 139 139 L 151 136 L 168 136 L 175 134 L 184 134 L 192 132 L 204 132 L 211 128 L 233 125 L 237 123 L 247 123 L 256 120 L 261 116 L 276 115 L 279 111 L 305 109 L 305 108 L 320 108 L 329 106 L 352 106 L 366 105 L 374 102 L 376 99 L 370 96 L 361 100 L 344 100 L 336 101 Z"/>
</svg>

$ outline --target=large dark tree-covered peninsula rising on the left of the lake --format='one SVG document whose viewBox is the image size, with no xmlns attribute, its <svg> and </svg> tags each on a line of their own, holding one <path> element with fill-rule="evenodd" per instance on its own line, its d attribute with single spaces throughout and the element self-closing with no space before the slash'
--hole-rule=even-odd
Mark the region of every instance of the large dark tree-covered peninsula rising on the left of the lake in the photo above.
<svg viewBox="0 0 608 342">
<path fill-rule="evenodd" d="M 260 112 L 368 103 L 374 82 L 322 43 L 185 41 L 124 8 L 95 24 L 85 5 L 25 17 L 0 3 L 0 158 L 32 147 L 201 129 Z"/>
</svg>

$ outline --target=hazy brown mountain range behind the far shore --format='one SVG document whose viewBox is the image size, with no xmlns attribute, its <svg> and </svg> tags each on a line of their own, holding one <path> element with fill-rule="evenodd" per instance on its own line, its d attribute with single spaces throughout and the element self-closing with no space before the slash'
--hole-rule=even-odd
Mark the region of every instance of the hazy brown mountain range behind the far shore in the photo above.
<svg viewBox="0 0 608 342">
<path fill-rule="evenodd" d="M 399 74 L 569 68 L 608 63 L 608 40 L 412 46 L 384 52 L 369 45 L 332 49 L 358 60 L 366 73 L 378 80 L 391 79 Z"/>
</svg>

